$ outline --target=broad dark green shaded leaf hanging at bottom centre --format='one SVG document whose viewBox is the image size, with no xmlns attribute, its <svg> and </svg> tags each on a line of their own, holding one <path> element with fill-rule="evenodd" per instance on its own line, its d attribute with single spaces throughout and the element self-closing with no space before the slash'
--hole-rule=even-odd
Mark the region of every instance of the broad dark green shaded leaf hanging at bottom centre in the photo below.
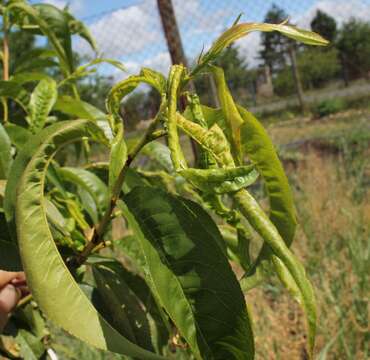
<svg viewBox="0 0 370 360">
<path fill-rule="evenodd" d="M 223 240 L 196 203 L 151 187 L 125 196 L 148 274 L 197 359 L 252 359 L 253 335 Z"/>
</svg>

